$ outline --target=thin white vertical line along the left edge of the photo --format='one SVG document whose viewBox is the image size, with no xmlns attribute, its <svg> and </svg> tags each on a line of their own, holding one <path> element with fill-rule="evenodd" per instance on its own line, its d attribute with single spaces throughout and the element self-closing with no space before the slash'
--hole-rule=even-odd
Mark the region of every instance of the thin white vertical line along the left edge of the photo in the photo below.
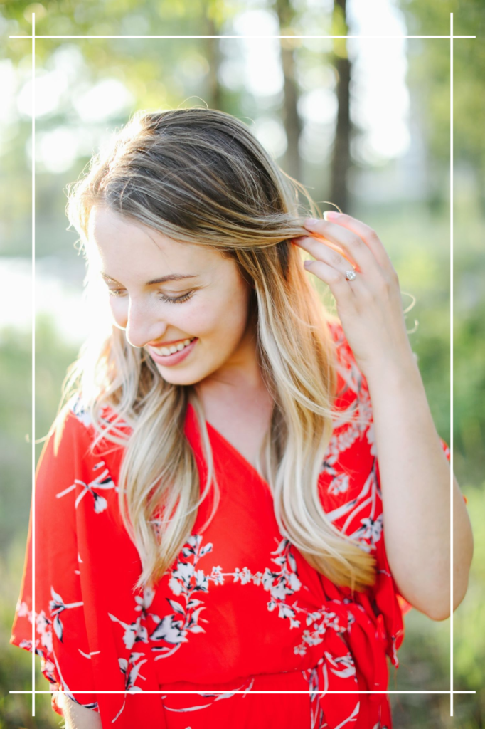
<svg viewBox="0 0 485 729">
<path fill-rule="evenodd" d="M 32 13 L 32 716 L 36 715 L 36 14 Z"/>
</svg>

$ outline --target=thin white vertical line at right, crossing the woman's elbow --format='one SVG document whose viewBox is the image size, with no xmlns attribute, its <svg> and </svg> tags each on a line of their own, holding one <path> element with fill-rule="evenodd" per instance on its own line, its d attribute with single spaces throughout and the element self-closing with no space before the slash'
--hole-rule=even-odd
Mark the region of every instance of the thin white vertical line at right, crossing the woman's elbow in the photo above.
<svg viewBox="0 0 485 729">
<path fill-rule="evenodd" d="M 450 563 L 449 563 L 449 600 L 450 600 L 450 614 L 449 614 L 449 628 L 450 628 L 450 639 L 449 639 L 449 703 L 450 703 L 450 716 L 453 716 L 453 13 L 450 12 L 450 39 L 449 39 L 449 215 L 450 215 L 450 497 L 449 497 L 449 512 L 450 512 Z"/>
</svg>

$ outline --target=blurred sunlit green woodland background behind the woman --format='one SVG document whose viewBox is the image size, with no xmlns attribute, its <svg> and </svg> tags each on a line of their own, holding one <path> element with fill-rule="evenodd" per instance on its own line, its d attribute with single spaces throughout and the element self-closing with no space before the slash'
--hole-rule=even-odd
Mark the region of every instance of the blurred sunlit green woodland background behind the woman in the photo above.
<svg viewBox="0 0 485 729">
<path fill-rule="evenodd" d="M 476 35 L 454 42 L 454 472 L 475 555 L 454 613 L 454 687 L 393 695 L 396 728 L 484 725 L 485 7 L 483 0 L 0 0 L 0 729 L 58 727 L 9 645 L 31 504 L 30 34 Z M 84 261 L 66 230 L 66 184 L 136 109 L 207 105 L 245 121 L 277 163 L 371 225 L 393 259 L 409 338 L 450 443 L 449 41 L 46 39 L 36 41 L 36 439 L 87 333 Z M 328 292 L 324 299 L 331 306 Z M 413 299 L 414 297 L 414 299 Z M 36 444 L 36 456 L 43 442 Z M 450 625 L 406 615 L 390 690 L 448 690 Z M 37 689 L 48 683 L 38 668 Z"/>
</svg>

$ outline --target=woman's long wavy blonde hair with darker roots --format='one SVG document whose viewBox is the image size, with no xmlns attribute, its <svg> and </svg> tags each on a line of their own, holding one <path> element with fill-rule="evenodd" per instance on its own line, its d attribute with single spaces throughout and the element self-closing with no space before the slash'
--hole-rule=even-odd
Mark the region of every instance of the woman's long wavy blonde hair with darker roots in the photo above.
<svg viewBox="0 0 485 729">
<path fill-rule="evenodd" d="M 125 446 L 119 509 L 141 558 L 135 588 L 154 585 L 170 569 L 210 488 L 213 517 L 218 486 L 194 386 L 166 382 L 146 351 L 131 346 L 107 315 L 106 291 L 87 254 L 94 204 L 235 260 L 252 286 L 257 354 L 275 403 L 258 469 L 272 490 L 280 531 L 334 584 L 352 590 L 374 584 L 374 556 L 336 529 L 318 494 L 335 417 L 336 352 L 327 322 L 336 319 L 291 244 L 307 234 L 299 192 L 318 217 L 307 190 L 279 168 L 243 122 L 207 108 L 136 112 L 92 157 L 87 173 L 68 185 L 66 214 L 80 235 L 87 260 L 84 295 L 95 316 L 92 333 L 68 368 L 61 403 L 73 390 L 82 393 L 97 432 L 92 450 L 102 438 Z M 202 491 L 184 434 L 189 402 L 208 462 Z M 106 406 L 117 415 L 110 423 L 101 415 Z M 120 422 L 130 426 L 128 438 Z M 154 515 L 161 506 L 169 517 L 160 522 Z"/>
</svg>

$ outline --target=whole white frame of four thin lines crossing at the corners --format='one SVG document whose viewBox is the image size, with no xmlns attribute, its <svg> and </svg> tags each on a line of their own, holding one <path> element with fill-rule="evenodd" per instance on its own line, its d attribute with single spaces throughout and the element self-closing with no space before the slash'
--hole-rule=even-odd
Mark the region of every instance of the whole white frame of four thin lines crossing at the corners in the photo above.
<svg viewBox="0 0 485 729">
<path fill-rule="evenodd" d="M 35 48 L 36 39 L 331 39 L 331 38 L 359 38 L 359 39 L 398 39 L 398 38 L 414 38 L 414 39 L 449 39 L 450 42 L 450 539 L 451 539 L 451 554 L 450 554 L 450 687 L 448 691 L 435 690 L 435 691 L 316 691 L 312 693 L 328 693 L 328 694 L 342 694 L 342 693 L 398 693 L 398 694 L 449 694 L 450 698 L 450 717 L 453 716 L 453 697 L 454 694 L 474 694 L 476 691 L 455 691 L 453 688 L 453 295 L 454 295 L 454 279 L 453 279 L 453 174 L 454 174 L 454 160 L 453 160 L 453 41 L 454 39 L 476 39 L 476 36 L 455 36 L 453 34 L 453 13 L 450 13 L 450 34 L 449 36 L 37 36 L 36 35 L 36 15 L 32 13 L 32 34 L 30 36 L 9 36 L 12 39 L 31 39 L 32 41 L 32 504 L 35 504 L 35 176 L 36 176 L 36 147 L 35 147 L 35 79 L 36 79 L 36 63 L 35 63 Z M 35 607 L 35 508 L 32 510 L 32 611 L 34 612 Z M 47 693 L 52 695 L 53 693 L 66 693 L 65 691 L 37 691 L 35 690 L 35 620 L 32 620 L 32 690 L 31 691 L 16 691 L 12 690 L 9 693 L 30 693 L 32 695 L 32 716 L 35 716 L 35 697 L 38 693 Z M 93 693 L 90 691 L 71 691 L 71 693 Z M 138 691 L 96 691 L 97 694 L 103 693 L 119 693 L 126 695 L 140 694 Z M 198 691 L 143 691 L 144 694 L 148 693 L 200 693 Z M 212 693 L 227 693 L 226 691 L 213 691 Z M 245 693 L 243 691 L 234 691 L 232 693 Z M 253 691 L 253 693 L 304 693 L 307 691 Z"/>
</svg>

